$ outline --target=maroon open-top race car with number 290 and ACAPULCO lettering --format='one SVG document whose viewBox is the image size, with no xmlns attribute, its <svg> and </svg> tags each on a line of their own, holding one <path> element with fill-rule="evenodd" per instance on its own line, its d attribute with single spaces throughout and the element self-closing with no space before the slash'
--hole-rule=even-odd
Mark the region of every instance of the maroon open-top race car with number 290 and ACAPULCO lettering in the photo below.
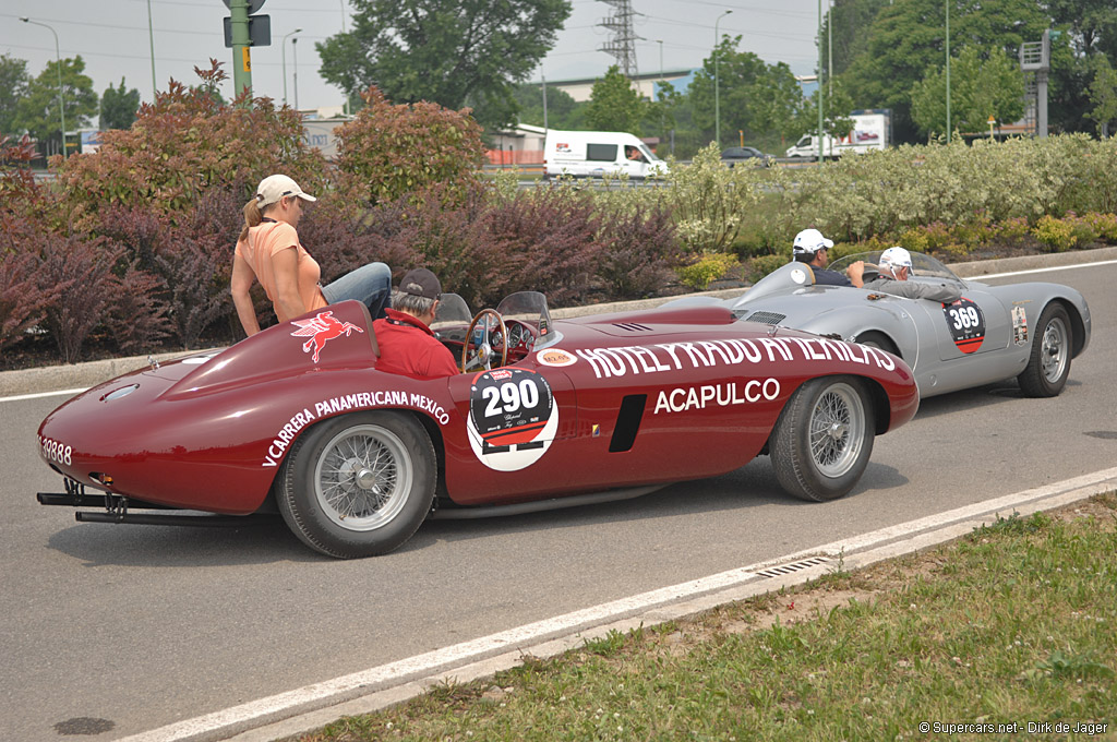
<svg viewBox="0 0 1117 742">
<path fill-rule="evenodd" d="M 765 453 L 791 494 L 840 497 L 919 403 L 895 355 L 720 306 L 553 322 L 524 292 L 471 322 L 456 295 L 439 307 L 462 368 L 447 379 L 378 371 L 369 313 L 346 302 L 95 387 L 39 427 L 66 484 L 39 502 L 112 523 L 278 511 L 311 548 L 366 556 L 427 517 L 631 497 Z"/>
</svg>

